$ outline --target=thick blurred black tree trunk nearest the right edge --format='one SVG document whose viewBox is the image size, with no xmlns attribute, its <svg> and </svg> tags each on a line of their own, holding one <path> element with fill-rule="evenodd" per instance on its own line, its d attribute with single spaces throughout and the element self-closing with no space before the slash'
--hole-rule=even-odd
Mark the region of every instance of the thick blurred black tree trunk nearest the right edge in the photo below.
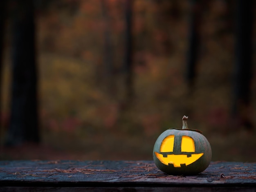
<svg viewBox="0 0 256 192">
<path fill-rule="evenodd" d="M 234 67 L 233 116 L 242 126 L 252 129 L 249 120 L 250 85 L 252 79 L 253 0 L 236 1 L 236 50 Z"/>
</svg>

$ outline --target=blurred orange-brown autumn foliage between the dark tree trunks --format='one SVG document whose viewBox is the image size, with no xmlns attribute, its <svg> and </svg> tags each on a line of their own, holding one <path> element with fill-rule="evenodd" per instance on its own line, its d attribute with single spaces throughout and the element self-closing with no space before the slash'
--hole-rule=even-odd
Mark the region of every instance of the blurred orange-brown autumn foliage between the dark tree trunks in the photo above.
<svg viewBox="0 0 256 192">
<path fill-rule="evenodd" d="M 255 141 L 245 138 L 252 138 L 255 131 L 233 130 L 230 124 L 234 4 L 209 0 L 198 8 L 198 61 L 195 84 L 189 89 L 185 79 L 189 1 L 134 0 L 134 94 L 127 99 L 124 2 L 53 0 L 37 4 L 43 145 L 84 154 L 83 159 L 151 160 L 155 139 L 169 127 L 181 128 L 181 118 L 187 115 L 191 128 L 202 130 L 211 143 L 213 160 L 254 159 L 255 150 L 251 153 L 245 146 L 253 147 Z M 106 34 L 111 47 L 108 67 Z M 9 113 L 11 80 L 7 57 L 5 63 L 4 119 Z M 254 82 L 255 72 L 253 96 Z M 253 96 L 249 115 L 255 114 Z"/>
</svg>

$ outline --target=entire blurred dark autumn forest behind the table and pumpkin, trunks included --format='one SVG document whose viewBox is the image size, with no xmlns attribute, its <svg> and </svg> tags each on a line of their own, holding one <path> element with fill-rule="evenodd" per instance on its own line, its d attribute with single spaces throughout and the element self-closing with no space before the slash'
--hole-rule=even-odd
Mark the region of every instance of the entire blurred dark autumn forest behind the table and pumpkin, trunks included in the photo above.
<svg viewBox="0 0 256 192">
<path fill-rule="evenodd" d="M 1 1 L 0 160 L 152 160 L 186 115 L 213 161 L 256 161 L 253 0 L 31 2 Z"/>
</svg>

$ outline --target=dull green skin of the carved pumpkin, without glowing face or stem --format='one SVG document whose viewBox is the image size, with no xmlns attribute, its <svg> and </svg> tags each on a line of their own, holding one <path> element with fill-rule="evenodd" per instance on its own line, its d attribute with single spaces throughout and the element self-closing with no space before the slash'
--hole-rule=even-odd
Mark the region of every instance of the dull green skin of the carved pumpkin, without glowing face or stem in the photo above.
<svg viewBox="0 0 256 192">
<path fill-rule="evenodd" d="M 164 138 L 169 135 L 174 135 L 176 138 L 181 138 L 181 136 L 189 136 L 193 138 L 195 143 L 194 154 L 204 153 L 198 160 L 191 163 L 190 165 L 183 165 L 181 167 L 174 167 L 172 164 L 165 165 L 159 159 L 157 159 L 155 152 L 160 153 L 160 146 Z M 180 141 L 178 141 L 180 142 Z M 180 152 L 180 143 L 174 142 L 173 154 L 184 154 Z M 178 145 L 178 146 L 177 146 Z M 176 148 L 176 149 L 175 149 Z M 178 150 L 179 149 L 179 152 Z M 192 153 L 193 154 L 193 153 Z M 195 175 L 204 171 L 211 162 L 211 145 L 207 138 L 201 133 L 196 132 L 194 129 L 176 129 L 171 128 L 164 131 L 156 140 L 153 149 L 153 159 L 155 165 L 161 170 L 170 175 Z"/>
</svg>

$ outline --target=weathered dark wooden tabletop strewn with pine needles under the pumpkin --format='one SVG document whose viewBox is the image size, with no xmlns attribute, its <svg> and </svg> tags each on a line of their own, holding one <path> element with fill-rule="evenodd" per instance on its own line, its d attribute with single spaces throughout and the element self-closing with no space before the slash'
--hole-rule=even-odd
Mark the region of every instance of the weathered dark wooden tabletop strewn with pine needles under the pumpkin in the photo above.
<svg viewBox="0 0 256 192">
<path fill-rule="evenodd" d="M 0 161 L 0 192 L 73 190 L 256 192 L 256 163 L 216 161 L 173 176 L 153 161 Z"/>
</svg>

